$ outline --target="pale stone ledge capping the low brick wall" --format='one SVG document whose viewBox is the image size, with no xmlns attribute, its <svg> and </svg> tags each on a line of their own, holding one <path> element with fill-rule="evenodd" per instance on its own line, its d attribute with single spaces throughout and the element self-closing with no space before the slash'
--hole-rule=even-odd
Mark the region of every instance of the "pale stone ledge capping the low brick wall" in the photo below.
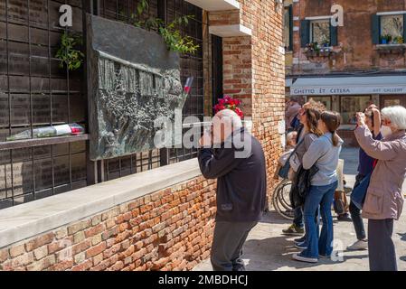
<svg viewBox="0 0 406 289">
<path fill-rule="evenodd" d="M 192 159 L 0 210 L 0 248 L 200 175 Z"/>
</svg>

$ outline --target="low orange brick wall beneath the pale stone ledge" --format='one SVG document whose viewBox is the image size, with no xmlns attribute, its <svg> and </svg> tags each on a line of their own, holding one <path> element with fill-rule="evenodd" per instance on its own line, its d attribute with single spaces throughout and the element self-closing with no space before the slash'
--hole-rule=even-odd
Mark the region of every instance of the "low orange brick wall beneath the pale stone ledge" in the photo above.
<svg viewBox="0 0 406 289">
<path fill-rule="evenodd" d="M 0 248 L 0 270 L 189 270 L 210 254 L 215 182 L 199 177 Z"/>
</svg>

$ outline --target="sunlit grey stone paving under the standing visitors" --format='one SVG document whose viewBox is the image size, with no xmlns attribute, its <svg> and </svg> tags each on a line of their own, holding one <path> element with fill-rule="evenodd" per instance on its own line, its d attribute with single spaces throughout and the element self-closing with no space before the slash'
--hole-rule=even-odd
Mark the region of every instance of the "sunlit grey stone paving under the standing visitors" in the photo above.
<svg viewBox="0 0 406 289">
<path fill-rule="evenodd" d="M 345 159 L 345 180 L 354 184 L 357 168 L 357 150 L 345 148 L 341 157 Z M 403 186 L 403 189 L 406 189 Z M 406 192 L 406 190 L 404 190 Z M 355 240 L 353 224 L 338 222 L 335 218 L 335 258 L 321 259 L 317 264 L 307 264 L 292 260 L 292 254 L 299 252 L 294 247 L 292 237 L 281 234 L 290 222 L 270 211 L 255 227 L 244 245 L 243 260 L 249 271 L 365 271 L 369 270 L 368 251 L 346 251 L 345 247 Z M 365 220 L 365 225 L 366 220 Z M 406 270 L 406 214 L 395 222 L 393 241 L 396 247 L 399 270 Z M 210 260 L 205 260 L 194 268 L 195 271 L 211 271 Z"/>
</svg>

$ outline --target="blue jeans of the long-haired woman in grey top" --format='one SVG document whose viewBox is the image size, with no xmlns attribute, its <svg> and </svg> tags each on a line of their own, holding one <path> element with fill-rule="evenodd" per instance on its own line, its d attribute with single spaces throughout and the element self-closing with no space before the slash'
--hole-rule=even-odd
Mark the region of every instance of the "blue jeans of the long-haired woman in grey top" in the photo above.
<svg viewBox="0 0 406 289">
<path fill-rule="evenodd" d="M 338 182 L 333 182 L 326 186 L 310 187 L 303 211 L 307 233 L 307 249 L 300 253 L 301 256 L 318 258 L 319 255 L 330 256 L 333 252 L 333 217 L 331 216 L 331 206 L 337 184 Z M 315 222 L 315 212 L 319 205 L 323 223 L 320 236 L 318 236 L 317 224 Z"/>
</svg>

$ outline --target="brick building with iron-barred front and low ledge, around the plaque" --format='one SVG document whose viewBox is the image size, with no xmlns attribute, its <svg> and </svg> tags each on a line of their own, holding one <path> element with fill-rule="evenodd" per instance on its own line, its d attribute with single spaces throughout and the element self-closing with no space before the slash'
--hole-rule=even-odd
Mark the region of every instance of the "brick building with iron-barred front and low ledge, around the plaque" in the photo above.
<svg viewBox="0 0 406 289">
<path fill-rule="evenodd" d="M 0 2 L 0 270 L 185 270 L 209 256 L 216 182 L 204 180 L 196 150 L 92 162 L 87 72 L 63 70 L 54 57 L 66 30 L 61 5 L 72 7 L 68 30 L 85 35 L 86 14 L 130 24 L 138 3 Z M 203 121 L 222 94 L 241 99 L 266 152 L 270 194 L 284 137 L 283 5 L 148 3 L 146 16 L 165 22 L 194 15 L 182 28 L 199 44 L 181 55 L 182 81 L 194 76 L 183 115 Z M 86 134 L 5 142 L 27 128 L 71 122 Z"/>
</svg>

